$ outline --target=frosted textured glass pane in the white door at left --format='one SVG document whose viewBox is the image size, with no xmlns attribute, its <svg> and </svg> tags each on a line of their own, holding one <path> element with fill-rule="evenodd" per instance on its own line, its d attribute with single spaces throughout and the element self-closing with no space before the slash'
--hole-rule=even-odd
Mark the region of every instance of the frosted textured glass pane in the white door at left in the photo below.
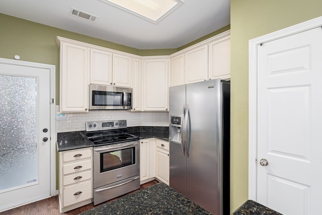
<svg viewBox="0 0 322 215">
<path fill-rule="evenodd" d="M 0 75 L 0 190 L 38 181 L 37 79 Z"/>
</svg>

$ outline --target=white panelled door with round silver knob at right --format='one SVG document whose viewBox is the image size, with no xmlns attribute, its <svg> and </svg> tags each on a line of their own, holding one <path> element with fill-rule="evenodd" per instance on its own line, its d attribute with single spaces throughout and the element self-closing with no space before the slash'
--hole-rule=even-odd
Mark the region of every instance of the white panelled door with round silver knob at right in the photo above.
<svg viewBox="0 0 322 215">
<path fill-rule="evenodd" d="M 321 38 L 319 27 L 257 50 L 257 201 L 283 214 L 322 214 Z"/>
</svg>

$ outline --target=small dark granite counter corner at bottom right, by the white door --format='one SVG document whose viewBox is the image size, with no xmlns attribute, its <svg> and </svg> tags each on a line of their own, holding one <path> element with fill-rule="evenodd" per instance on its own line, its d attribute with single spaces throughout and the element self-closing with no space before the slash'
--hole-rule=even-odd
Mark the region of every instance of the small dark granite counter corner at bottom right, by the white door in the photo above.
<svg viewBox="0 0 322 215">
<path fill-rule="evenodd" d="M 232 215 L 282 215 L 256 201 L 247 200 Z"/>
</svg>

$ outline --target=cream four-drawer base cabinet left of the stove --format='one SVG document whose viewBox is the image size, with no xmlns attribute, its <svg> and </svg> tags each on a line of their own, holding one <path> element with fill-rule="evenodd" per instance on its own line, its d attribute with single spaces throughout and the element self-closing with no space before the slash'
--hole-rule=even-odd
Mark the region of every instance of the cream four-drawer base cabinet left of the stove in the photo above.
<svg viewBox="0 0 322 215">
<path fill-rule="evenodd" d="M 93 148 L 59 152 L 60 212 L 92 202 Z"/>
</svg>

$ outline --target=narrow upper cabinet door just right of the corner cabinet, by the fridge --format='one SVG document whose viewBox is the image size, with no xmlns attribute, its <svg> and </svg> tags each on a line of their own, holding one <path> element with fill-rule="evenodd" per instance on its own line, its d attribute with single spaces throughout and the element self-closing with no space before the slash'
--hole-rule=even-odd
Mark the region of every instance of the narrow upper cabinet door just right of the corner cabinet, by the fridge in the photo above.
<svg viewBox="0 0 322 215">
<path fill-rule="evenodd" d="M 183 85 L 185 83 L 185 55 L 180 54 L 171 58 L 170 86 Z"/>
</svg>

